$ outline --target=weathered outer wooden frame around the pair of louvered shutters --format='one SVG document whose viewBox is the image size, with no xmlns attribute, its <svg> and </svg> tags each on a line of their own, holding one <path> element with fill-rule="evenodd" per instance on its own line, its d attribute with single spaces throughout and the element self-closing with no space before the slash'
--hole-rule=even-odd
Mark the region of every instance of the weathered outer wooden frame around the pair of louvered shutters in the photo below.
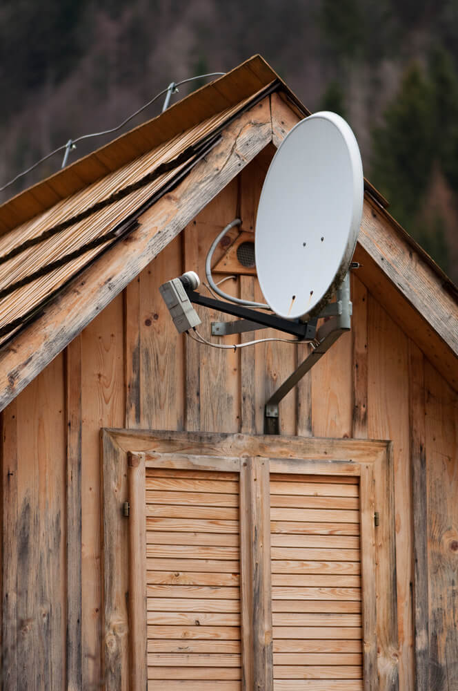
<svg viewBox="0 0 458 691">
<path fill-rule="evenodd" d="M 248 457 L 272 459 L 269 462 L 271 472 L 285 473 L 288 467 L 289 472 L 297 472 L 301 464 L 306 473 L 326 474 L 330 473 L 332 466 L 332 474 L 361 475 L 363 486 L 374 484 L 368 480 L 372 474 L 374 502 L 372 504 L 370 499 L 364 516 L 361 515 L 361 529 L 366 533 L 369 530 L 369 520 L 373 520 L 372 505 L 379 511 L 381 522 L 369 540 L 377 560 L 377 623 L 375 638 L 374 613 L 370 609 L 371 614 L 366 614 L 364 624 L 365 670 L 368 670 L 369 678 L 375 678 L 375 674 L 378 676 L 380 691 L 397 691 L 395 504 L 390 442 L 125 429 L 101 430 L 101 442 L 106 691 L 129 689 L 126 672 L 130 659 L 126 604 L 129 591 L 128 526 L 121 513 L 121 505 L 128 499 L 128 452 L 132 457 L 141 457 L 146 465 L 154 463 L 158 455 L 167 454 L 166 462 L 170 468 L 191 463 L 192 467 L 205 470 L 209 457 L 212 462 L 217 461 L 220 470 L 232 472 L 237 465 L 239 468 L 243 466 L 243 460 Z M 365 490 L 365 493 L 370 496 L 370 492 Z M 363 579 L 373 583 L 374 575 L 368 563 L 362 565 Z M 374 603 L 370 603 L 370 607 L 373 606 Z M 375 650 L 378 650 L 376 666 Z M 375 688 L 375 685 L 365 684 L 365 688 Z"/>
</svg>

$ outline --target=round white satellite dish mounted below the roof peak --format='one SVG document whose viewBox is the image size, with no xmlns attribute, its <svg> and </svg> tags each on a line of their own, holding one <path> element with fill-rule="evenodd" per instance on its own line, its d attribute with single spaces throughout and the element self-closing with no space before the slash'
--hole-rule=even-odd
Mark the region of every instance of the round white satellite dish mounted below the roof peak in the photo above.
<svg viewBox="0 0 458 691">
<path fill-rule="evenodd" d="M 348 272 L 363 211 L 361 155 L 350 126 L 323 111 L 286 135 L 256 220 L 257 275 L 279 316 L 313 316 Z"/>
</svg>

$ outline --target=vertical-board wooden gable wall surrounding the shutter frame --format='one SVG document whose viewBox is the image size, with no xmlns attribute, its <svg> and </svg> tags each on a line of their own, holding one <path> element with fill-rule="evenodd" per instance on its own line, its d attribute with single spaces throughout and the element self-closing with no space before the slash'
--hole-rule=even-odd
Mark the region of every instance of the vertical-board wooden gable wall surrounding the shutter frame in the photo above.
<svg viewBox="0 0 458 691">
<path fill-rule="evenodd" d="M 177 336 L 158 290 L 186 269 L 203 276 L 210 241 L 235 216 L 254 227 L 271 153 L 228 184 L 3 412 L 4 689 L 103 683 L 100 429 L 262 433 L 263 404 L 305 357 L 285 343 L 237 353 L 197 346 Z M 251 276 L 224 285 L 260 297 Z M 417 689 L 441 690 L 458 674 L 450 666 L 458 650 L 457 396 L 357 274 L 352 300 L 351 334 L 283 401 L 281 434 L 392 440 L 392 656 L 401 690 L 415 688 L 415 660 Z"/>
</svg>

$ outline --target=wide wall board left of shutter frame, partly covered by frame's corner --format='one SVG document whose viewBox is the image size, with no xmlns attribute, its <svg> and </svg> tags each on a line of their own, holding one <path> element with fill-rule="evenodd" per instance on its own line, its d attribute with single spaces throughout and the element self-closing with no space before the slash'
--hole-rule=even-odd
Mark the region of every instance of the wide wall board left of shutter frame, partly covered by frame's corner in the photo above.
<svg viewBox="0 0 458 691">
<path fill-rule="evenodd" d="M 121 296 L 90 323 L 81 339 L 83 687 L 90 688 L 103 680 L 100 429 L 119 426 L 125 417 Z"/>
</svg>

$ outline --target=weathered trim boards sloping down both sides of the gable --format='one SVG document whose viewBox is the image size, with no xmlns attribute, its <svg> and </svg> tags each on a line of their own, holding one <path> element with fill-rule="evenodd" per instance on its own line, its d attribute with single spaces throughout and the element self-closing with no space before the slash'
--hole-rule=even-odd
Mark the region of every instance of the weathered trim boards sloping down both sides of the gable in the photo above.
<svg viewBox="0 0 458 691">
<path fill-rule="evenodd" d="M 283 88 L 283 87 L 282 87 Z M 303 111 L 302 111 L 303 112 Z M 162 117 L 162 116 L 161 116 Z M 163 117 L 167 117 L 167 112 Z M 137 218 L 139 227 L 106 250 L 0 350 L 0 409 L 72 341 L 192 218 L 270 142 L 301 117 L 289 94 L 272 93 L 221 132 L 221 141 L 178 186 Z M 65 172 L 65 171 L 63 171 Z M 19 199 L 19 198 L 17 198 Z M 128 258 L 126 259 L 126 254 Z M 458 390 L 457 301 L 448 279 L 392 220 L 366 185 L 355 254 L 358 277 Z"/>
</svg>

